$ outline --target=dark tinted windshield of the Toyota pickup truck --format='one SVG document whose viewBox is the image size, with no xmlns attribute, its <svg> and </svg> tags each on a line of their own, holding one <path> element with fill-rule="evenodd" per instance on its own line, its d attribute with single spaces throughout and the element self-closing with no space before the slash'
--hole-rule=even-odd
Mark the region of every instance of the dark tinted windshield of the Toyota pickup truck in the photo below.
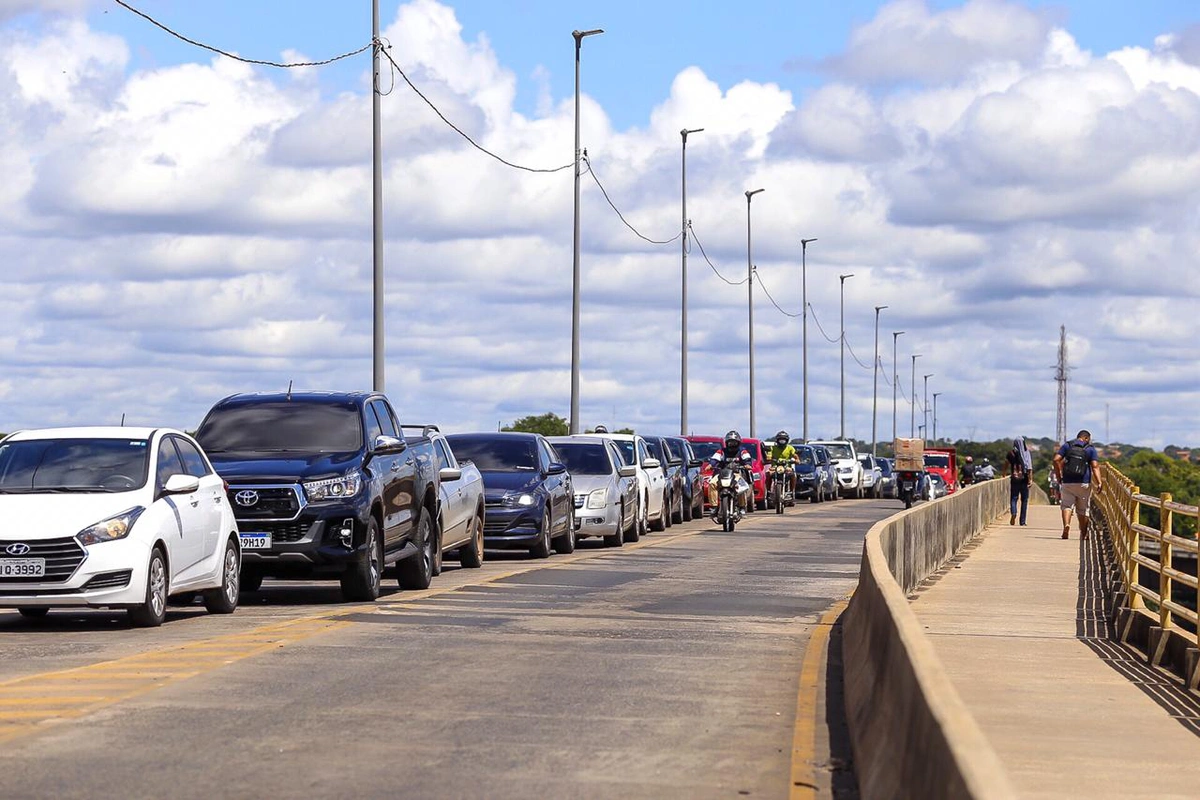
<svg viewBox="0 0 1200 800">
<path fill-rule="evenodd" d="M 196 438 L 209 453 L 354 452 L 362 423 L 353 404 L 256 403 L 215 409 Z"/>
</svg>

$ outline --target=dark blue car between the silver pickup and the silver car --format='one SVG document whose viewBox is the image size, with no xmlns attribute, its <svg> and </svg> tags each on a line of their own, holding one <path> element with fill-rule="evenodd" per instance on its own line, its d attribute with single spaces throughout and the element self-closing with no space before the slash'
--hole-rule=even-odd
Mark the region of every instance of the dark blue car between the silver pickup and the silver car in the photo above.
<svg viewBox="0 0 1200 800">
<path fill-rule="evenodd" d="M 452 433 L 455 457 L 484 477 L 484 545 L 534 558 L 575 552 L 571 475 L 536 433 Z"/>
</svg>

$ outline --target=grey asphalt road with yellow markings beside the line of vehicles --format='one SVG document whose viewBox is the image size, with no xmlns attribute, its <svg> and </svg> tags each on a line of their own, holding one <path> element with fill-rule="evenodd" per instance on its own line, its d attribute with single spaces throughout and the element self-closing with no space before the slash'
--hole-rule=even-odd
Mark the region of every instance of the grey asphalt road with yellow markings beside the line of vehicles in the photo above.
<svg viewBox="0 0 1200 800">
<path fill-rule="evenodd" d="M 152 631 L 0 612 L 0 796 L 785 798 L 812 718 L 798 757 L 850 796 L 836 633 L 811 708 L 800 664 L 898 509 L 488 553 L 368 604 L 268 582 Z"/>
</svg>

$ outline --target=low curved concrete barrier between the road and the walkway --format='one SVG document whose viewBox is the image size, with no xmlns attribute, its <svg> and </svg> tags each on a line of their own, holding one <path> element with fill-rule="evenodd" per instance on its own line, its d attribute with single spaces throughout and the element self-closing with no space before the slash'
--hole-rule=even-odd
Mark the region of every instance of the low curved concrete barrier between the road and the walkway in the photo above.
<svg viewBox="0 0 1200 800">
<path fill-rule="evenodd" d="M 1008 481 L 994 480 L 889 517 L 866 534 L 842 646 L 846 716 L 868 800 L 1016 796 L 907 600 L 1007 509 Z"/>
</svg>

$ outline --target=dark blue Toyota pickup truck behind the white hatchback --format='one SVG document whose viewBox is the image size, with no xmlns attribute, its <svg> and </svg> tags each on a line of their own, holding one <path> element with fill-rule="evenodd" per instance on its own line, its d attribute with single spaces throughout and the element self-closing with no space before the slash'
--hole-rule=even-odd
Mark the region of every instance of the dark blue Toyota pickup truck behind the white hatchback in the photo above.
<svg viewBox="0 0 1200 800">
<path fill-rule="evenodd" d="M 347 600 L 430 585 L 437 559 L 438 462 L 403 437 L 376 392 L 233 395 L 196 438 L 228 486 L 242 552 L 241 587 L 264 577 L 338 578 Z"/>
</svg>

